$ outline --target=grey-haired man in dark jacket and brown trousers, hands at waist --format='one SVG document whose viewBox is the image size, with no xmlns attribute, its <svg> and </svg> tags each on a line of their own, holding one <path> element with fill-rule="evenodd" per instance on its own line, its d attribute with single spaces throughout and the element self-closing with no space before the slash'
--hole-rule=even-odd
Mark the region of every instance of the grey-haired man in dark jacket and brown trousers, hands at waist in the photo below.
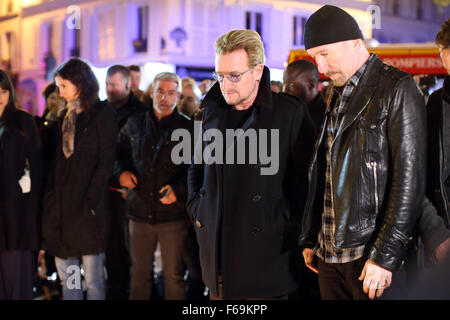
<svg viewBox="0 0 450 320">
<path fill-rule="evenodd" d="M 172 161 L 171 140 L 177 129 L 192 131 L 192 121 L 178 113 L 181 80 L 173 73 L 156 76 L 153 109 L 132 115 L 119 133 L 118 144 L 130 150 L 119 155 L 116 175 L 127 191 L 130 217 L 130 299 L 151 297 L 153 262 L 159 242 L 165 299 L 185 299 L 183 250 L 188 232 L 188 164 Z M 119 150 L 120 151 L 120 150 Z"/>
</svg>

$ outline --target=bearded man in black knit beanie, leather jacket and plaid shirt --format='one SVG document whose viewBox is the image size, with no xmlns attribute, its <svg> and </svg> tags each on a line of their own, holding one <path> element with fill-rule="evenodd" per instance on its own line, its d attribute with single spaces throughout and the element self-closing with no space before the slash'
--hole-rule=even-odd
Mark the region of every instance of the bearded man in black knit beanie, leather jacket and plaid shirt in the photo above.
<svg viewBox="0 0 450 320">
<path fill-rule="evenodd" d="M 341 8 L 314 12 L 304 43 L 333 90 L 299 244 L 323 299 L 379 298 L 395 281 L 424 198 L 423 98 L 411 76 L 369 54 Z"/>
</svg>

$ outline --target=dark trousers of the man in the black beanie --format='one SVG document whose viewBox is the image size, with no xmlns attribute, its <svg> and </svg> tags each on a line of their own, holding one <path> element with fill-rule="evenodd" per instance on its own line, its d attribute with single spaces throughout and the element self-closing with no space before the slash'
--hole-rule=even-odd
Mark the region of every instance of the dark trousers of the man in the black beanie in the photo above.
<svg viewBox="0 0 450 320">
<path fill-rule="evenodd" d="M 322 300 L 368 300 L 363 282 L 358 280 L 367 258 L 347 263 L 326 263 L 318 258 Z"/>
</svg>

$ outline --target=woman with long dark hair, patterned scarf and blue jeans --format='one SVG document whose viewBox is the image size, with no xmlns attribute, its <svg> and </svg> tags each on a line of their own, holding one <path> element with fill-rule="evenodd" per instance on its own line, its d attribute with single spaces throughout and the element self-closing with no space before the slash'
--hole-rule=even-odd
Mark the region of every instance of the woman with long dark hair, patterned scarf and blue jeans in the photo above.
<svg viewBox="0 0 450 320">
<path fill-rule="evenodd" d="M 98 97 L 91 68 L 70 59 L 55 72 L 67 111 L 44 197 L 44 248 L 55 256 L 63 299 L 81 300 L 83 266 L 87 299 L 105 298 L 107 188 L 115 159 L 117 122 Z"/>
</svg>

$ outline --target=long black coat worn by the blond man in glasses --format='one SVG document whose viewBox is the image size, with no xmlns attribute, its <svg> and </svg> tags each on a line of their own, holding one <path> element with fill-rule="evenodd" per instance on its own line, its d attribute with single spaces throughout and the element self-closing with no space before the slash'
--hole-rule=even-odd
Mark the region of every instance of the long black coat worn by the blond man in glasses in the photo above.
<svg viewBox="0 0 450 320">
<path fill-rule="evenodd" d="M 260 129 L 268 129 L 269 139 L 273 129 L 279 130 L 276 174 L 261 174 L 268 165 L 262 165 L 259 156 L 256 164 L 194 163 L 188 175 L 187 206 L 197 231 L 203 281 L 217 295 L 220 267 L 223 295 L 231 299 L 275 297 L 295 289 L 290 258 L 299 254 L 294 235 L 299 232 L 296 222 L 304 207 L 306 168 L 315 142 L 306 105 L 272 93 L 268 68 L 253 107 L 242 129 L 255 129 L 258 139 Z M 202 131 L 218 129 L 225 137 L 227 110 L 232 107 L 218 83 L 202 108 Z M 208 145 L 203 142 L 203 149 Z"/>
</svg>

